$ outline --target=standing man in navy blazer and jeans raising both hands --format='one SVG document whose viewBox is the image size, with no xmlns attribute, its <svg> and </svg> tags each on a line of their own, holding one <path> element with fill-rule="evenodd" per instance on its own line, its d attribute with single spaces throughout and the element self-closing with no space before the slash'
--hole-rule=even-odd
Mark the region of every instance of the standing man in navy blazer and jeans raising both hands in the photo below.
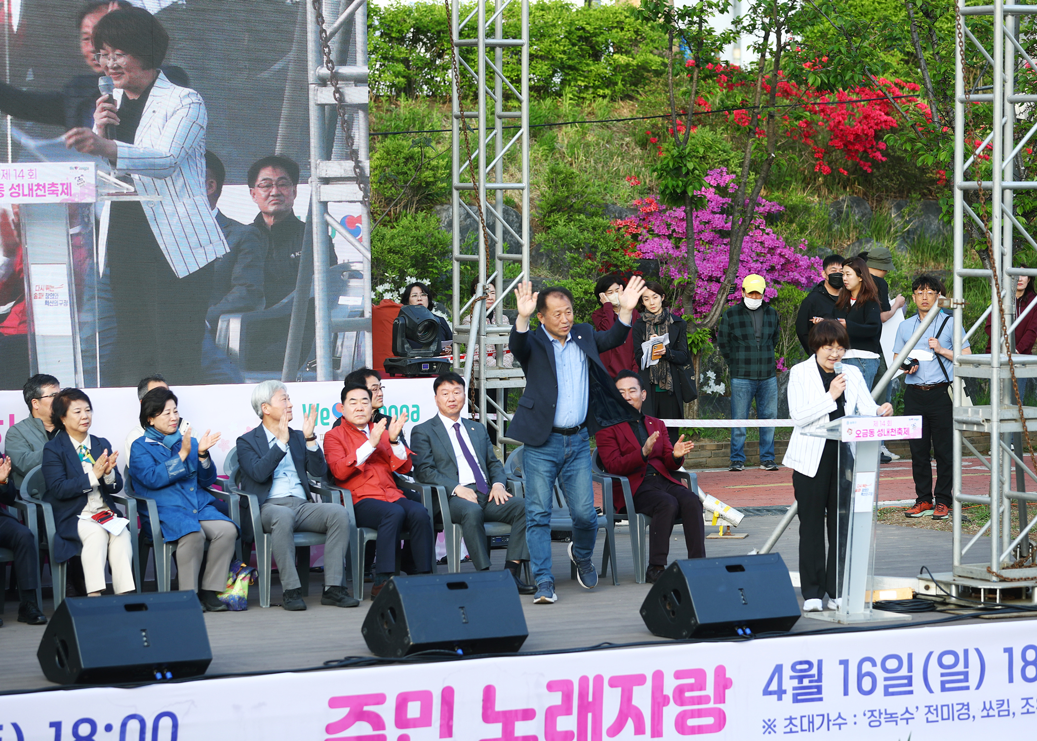
<svg viewBox="0 0 1037 741">
<path fill-rule="evenodd" d="M 597 539 L 597 513 L 590 477 L 590 436 L 633 418 L 601 362 L 600 353 L 618 348 L 630 331 L 634 307 L 645 281 L 635 275 L 619 297 L 619 321 L 606 332 L 573 324 L 572 294 L 562 287 L 533 293 L 532 283 L 515 289 L 518 317 L 508 347 L 526 374 L 526 388 L 508 436 L 525 443 L 526 539 L 536 580 L 533 602 L 558 600 L 551 573 L 551 511 L 556 478 L 572 518 L 569 558 L 588 589 L 597 585 L 591 562 Z M 536 311 L 540 326 L 530 331 Z"/>
</svg>

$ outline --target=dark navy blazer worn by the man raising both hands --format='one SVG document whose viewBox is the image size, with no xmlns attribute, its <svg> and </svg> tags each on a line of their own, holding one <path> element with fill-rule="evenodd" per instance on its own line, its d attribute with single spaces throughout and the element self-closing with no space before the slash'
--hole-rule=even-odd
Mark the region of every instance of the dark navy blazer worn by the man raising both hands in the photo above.
<svg viewBox="0 0 1037 741">
<path fill-rule="evenodd" d="M 626 341 L 630 328 L 616 322 L 606 332 L 589 324 L 576 324 L 569 341 L 576 342 L 587 356 L 590 379 L 587 384 L 587 430 L 593 435 L 601 428 L 633 419 L 630 405 L 616 389 L 612 376 L 601 362 L 600 353 L 618 348 Z M 558 404 L 558 368 L 555 349 L 543 326 L 518 332 L 511 329 L 508 347 L 526 374 L 526 389 L 508 424 L 508 437 L 527 445 L 542 445 L 551 435 Z"/>
</svg>

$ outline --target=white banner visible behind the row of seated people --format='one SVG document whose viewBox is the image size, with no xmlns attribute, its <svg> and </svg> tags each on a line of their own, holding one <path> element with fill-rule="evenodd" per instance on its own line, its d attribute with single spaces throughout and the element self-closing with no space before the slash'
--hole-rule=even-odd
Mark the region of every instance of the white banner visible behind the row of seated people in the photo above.
<svg viewBox="0 0 1037 741">
<path fill-rule="evenodd" d="M 436 413 L 430 378 L 385 379 L 385 406 L 382 411 L 397 416 L 405 408 L 410 417 L 404 433 L 410 433 L 415 424 L 431 418 Z M 335 420 L 342 416 L 340 381 L 314 383 L 288 383 L 288 394 L 295 407 L 291 427 L 303 429 L 303 417 L 311 405 L 317 406 L 317 436 L 323 440 Z M 180 416 L 191 422 L 195 435 L 201 436 L 205 430 L 219 431 L 223 437 L 213 450 L 213 457 L 220 470 L 223 459 L 232 448 L 239 436 L 259 423 L 252 411 L 251 384 L 227 386 L 176 386 L 173 391 L 178 399 Z M 140 403 L 136 388 L 88 388 L 84 389 L 93 407 L 93 424 L 90 434 L 107 438 L 116 450 L 121 450 L 127 433 L 139 423 Z M 16 422 L 29 415 L 21 391 L 0 391 L 0 442 Z M 124 457 L 121 458 L 125 460 Z M 2 736 L 0 736 L 2 740 Z"/>
</svg>

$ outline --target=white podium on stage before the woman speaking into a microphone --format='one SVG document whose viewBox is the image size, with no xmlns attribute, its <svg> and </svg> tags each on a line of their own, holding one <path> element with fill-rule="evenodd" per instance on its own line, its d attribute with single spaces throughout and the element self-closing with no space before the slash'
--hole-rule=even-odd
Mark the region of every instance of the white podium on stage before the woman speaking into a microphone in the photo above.
<svg viewBox="0 0 1037 741">
<path fill-rule="evenodd" d="M 835 623 L 909 620 L 871 606 L 875 569 L 875 518 L 878 501 L 878 457 L 887 440 L 922 437 L 922 417 L 841 417 L 805 432 L 839 441 L 837 538 L 829 543 L 838 557 L 836 592 L 839 608 L 808 612 L 807 618 Z M 832 517 L 833 513 L 829 513 Z"/>
</svg>

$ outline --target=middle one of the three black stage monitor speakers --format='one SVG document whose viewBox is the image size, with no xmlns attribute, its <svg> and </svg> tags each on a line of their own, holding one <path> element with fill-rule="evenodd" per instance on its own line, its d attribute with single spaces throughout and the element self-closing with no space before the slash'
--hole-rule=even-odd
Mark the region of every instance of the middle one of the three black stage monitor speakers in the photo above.
<svg viewBox="0 0 1037 741">
<path fill-rule="evenodd" d="M 529 636 L 508 571 L 394 576 L 361 629 L 375 656 L 444 649 L 464 654 L 518 651 Z"/>
</svg>

